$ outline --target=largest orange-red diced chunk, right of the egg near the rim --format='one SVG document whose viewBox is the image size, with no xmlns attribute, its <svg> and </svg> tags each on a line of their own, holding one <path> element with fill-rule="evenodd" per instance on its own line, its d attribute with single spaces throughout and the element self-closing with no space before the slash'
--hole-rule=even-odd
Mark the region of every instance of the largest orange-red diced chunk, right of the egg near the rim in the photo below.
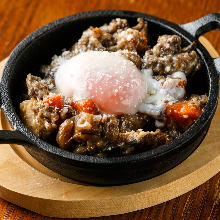
<svg viewBox="0 0 220 220">
<path fill-rule="evenodd" d="M 192 101 L 176 102 L 165 109 L 168 126 L 187 130 L 201 115 L 202 108 Z"/>
</svg>

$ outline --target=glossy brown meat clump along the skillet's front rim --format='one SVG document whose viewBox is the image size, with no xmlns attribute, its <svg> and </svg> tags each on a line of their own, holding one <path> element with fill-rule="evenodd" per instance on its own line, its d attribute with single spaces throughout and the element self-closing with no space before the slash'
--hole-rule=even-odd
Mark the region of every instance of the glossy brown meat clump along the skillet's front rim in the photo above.
<svg viewBox="0 0 220 220">
<path fill-rule="evenodd" d="M 109 156 L 112 151 L 118 155 L 131 154 L 167 143 L 168 136 L 160 130 L 139 129 L 146 121 L 141 115 L 117 118 L 82 112 L 60 125 L 57 142 L 63 149 L 98 156 Z"/>
</svg>

